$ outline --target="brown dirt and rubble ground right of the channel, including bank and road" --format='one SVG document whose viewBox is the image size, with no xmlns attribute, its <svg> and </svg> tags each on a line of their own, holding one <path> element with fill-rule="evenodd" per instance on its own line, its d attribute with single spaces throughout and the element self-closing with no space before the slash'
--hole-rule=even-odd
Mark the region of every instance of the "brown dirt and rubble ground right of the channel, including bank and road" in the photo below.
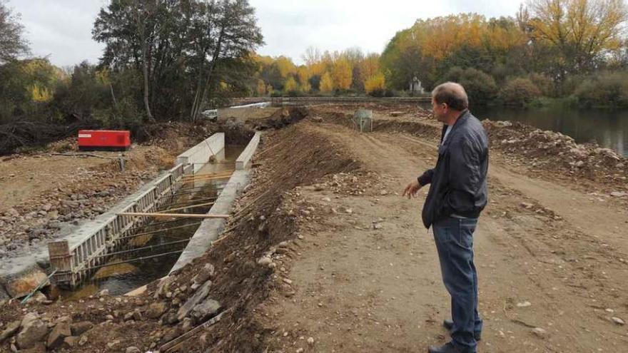
<svg viewBox="0 0 628 353">
<path fill-rule="evenodd" d="M 146 352 L 184 332 L 180 352 L 421 352 L 445 342 L 449 300 L 420 222 L 427 190 L 400 197 L 435 164 L 440 127 L 419 108 L 369 105 L 375 131 L 358 133 L 355 108 L 258 122 L 267 133 L 253 183 L 226 234 L 161 284 L 139 297 L 4 302 L 0 329 L 36 313 L 49 327 L 34 345 L 42 350 L 66 321 L 96 327 L 52 342 L 59 352 Z M 627 352 L 625 158 L 519 124 L 485 127 L 478 352 Z M 177 317 L 186 303 L 196 305 Z M 190 331 L 219 312 L 216 324 Z M 0 349 L 24 343 L 20 334 Z"/>
</svg>

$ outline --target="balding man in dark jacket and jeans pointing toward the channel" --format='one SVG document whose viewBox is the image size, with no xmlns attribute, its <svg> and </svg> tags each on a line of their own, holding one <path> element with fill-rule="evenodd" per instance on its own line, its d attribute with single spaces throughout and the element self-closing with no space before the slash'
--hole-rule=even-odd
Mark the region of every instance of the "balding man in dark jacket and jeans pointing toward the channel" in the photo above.
<svg viewBox="0 0 628 353">
<path fill-rule="evenodd" d="M 416 197 L 427 184 L 422 211 L 425 227 L 434 230 L 442 281 L 451 295 L 452 320 L 443 323 L 452 340 L 430 353 L 475 353 L 482 319 L 477 312 L 477 273 L 473 232 L 487 203 L 488 138 L 468 110 L 465 88 L 443 83 L 432 91 L 432 110 L 443 123 L 438 160 L 407 185 L 403 195 Z"/>
</svg>

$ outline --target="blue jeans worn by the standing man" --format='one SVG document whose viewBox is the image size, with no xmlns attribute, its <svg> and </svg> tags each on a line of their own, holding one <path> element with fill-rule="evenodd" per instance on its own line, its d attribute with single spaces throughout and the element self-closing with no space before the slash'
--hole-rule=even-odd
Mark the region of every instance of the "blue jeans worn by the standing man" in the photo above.
<svg viewBox="0 0 628 353">
<path fill-rule="evenodd" d="M 474 333 L 482 331 L 477 313 L 477 272 L 473 264 L 473 232 L 477 218 L 447 217 L 432 226 L 442 282 L 451 295 L 452 341 L 462 352 L 474 353 Z"/>
</svg>

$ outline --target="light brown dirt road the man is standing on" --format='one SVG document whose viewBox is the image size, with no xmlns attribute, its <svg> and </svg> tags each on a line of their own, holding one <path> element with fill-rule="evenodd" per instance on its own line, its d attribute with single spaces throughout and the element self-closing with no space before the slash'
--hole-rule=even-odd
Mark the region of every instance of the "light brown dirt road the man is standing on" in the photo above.
<svg viewBox="0 0 628 353">
<path fill-rule="evenodd" d="M 295 293 L 279 290 L 263 308 L 277 324 L 271 350 L 426 352 L 445 342 L 449 299 L 432 232 L 420 222 L 427 190 L 400 197 L 435 164 L 434 140 L 327 123 L 303 130 L 328 136 L 383 181 L 354 196 L 300 190 L 328 216 L 300 228 L 294 260 L 279 272 Z M 628 328 L 612 320 L 628 319 L 627 210 L 546 179 L 492 158 L 490 204 L 475 233 L 485 319 L 478 351 L 628 352 Z"/>
</svg>

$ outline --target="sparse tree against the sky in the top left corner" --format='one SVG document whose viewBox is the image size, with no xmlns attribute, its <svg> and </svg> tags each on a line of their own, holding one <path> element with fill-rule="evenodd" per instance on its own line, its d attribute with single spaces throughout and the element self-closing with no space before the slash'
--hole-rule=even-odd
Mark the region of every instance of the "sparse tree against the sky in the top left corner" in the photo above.
<svg viewBox="0 0 628 353">
<path fill-rule="evenodd" d="M 29 53 L 23 34 L 24 27 L 19 24 L 18 18 L 0 1 L 0 64 Z"/>
</svg>

